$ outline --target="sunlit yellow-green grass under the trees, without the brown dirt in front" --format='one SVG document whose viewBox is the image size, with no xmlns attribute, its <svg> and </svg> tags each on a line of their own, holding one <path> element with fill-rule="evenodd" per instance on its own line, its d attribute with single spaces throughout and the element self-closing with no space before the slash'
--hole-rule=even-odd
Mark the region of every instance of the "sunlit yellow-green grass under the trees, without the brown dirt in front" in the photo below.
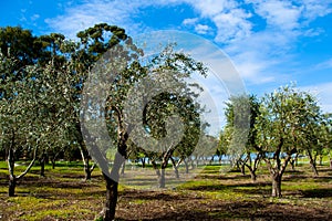
<svg viewBox="0 0 332 221">
<path fill-rule="evenodd" d="M 18 183 L 17 197 L 9 198 L 7 197 L 8 171 L 2 168 L 6 166 L 3 161 L 0 162 L 0 202 L 3 204 L 0 206 L 0 211 L 9 214 L 10 219 L 93 220 L 103 208 L 105 182 L 98 169 L 93 172 L 92 180 L 84 181 L 81 165 L 75 168 L 74 164 L 61 162 L 55 169 L 48 166 L 45 178 L 39 176 L 40 167 L 35 166 L 32 172 Z M 266 168 L 260 168 L 257 182 L 252 182 L 250 176 L 242 176 L 238 171 L 220 173 L 220 166 L 206 166 L 191 179 L 185 179 L 183 176 L 176 179 L 169 169 L 165 189 L 157 188 L 157 177 L 154 171 L 149 175 L 139 172 L 143 170 L 126 171 L 118 187 L 120 207 L 122 211 L 126 211 L 124 208 L 132 210 L 155 203 L 170 203 L 173 200 L 179 200 L 178 202 L 188 200 L 190 203 L 190 199 L 199 200 L 199 203 L 206 207 L 211 202 L 228 203 L 226 208 L 219 208 L 222 212 L 218 208 L 211 211 L 200 207 L 190 209 L 194 213 L 208 213 L 212 220 L 247 219 L 248 215 L 259 212 L 261 203 L 271 207 L 332 209 L 329 169 L 321 172 L 320 177 L 313 177 L 308 166 L 298 167 L 297 171 L 289 170 L 282 181 L 283 197 L 278 199 L 270 197 L 271 181 Z M 181 207 L 187 208 L 186 203 Z M 172 204 L 172 208 L 177 209 L 175 204 Z M 238 210 L 237 208 L 242 212 L 232 212 Z"/>
</svg>

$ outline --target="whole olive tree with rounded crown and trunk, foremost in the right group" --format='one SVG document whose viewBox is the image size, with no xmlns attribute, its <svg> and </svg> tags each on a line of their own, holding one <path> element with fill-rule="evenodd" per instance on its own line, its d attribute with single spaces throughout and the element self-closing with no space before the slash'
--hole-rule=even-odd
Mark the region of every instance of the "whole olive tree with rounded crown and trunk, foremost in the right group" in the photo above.
<svg viewBox="0 0 332 221">
<path fill-rule="evenodd" d="M 261 99 L 255 148 L 261 154 L 272 180 L 272 197 L 281 197 L 281 181 L 288 164 L 302 145 L 311 144 L 312 124 L 320 115 L 315 98 L 293 86 L 284 86 Z M 310 148 L 311 146 L 307 146 Z"/>
</svg>

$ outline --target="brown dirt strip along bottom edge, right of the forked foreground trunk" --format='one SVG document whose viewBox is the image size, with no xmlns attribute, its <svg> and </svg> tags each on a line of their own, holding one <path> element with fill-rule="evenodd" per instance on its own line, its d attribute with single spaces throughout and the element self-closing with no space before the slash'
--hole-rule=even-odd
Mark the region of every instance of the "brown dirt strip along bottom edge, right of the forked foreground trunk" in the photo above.
<svg viewBox="0 0 332 221">
<path fill-rule="evenodd" d="M 148 199 L 136 203 L 135 199 Z M 271 203 L 267 200 L 222 201 L 179 193 L 131 191 L 121 197 L 120 220 L 331 220 L 328 208 Z"/>
</svg>

